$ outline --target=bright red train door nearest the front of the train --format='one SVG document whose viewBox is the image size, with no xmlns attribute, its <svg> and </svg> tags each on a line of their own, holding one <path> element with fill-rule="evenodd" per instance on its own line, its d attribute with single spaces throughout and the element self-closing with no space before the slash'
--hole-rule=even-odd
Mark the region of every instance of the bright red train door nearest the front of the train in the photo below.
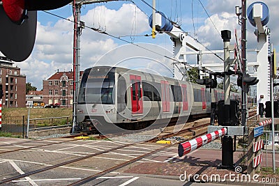
<svg viewBox="0 0 279 186">
<path fill-rule="evenodd" d="M 140 76 L 130 75 L 132 114 L 142 114 L 143 112 L 141 81 Z"/>
</svg>

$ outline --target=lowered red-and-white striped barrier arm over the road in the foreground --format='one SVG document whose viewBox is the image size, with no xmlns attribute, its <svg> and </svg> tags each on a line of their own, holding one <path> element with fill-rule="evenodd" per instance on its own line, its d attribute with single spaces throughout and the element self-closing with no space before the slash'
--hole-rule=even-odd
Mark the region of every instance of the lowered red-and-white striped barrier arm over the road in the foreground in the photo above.
<svg viewBox="0 0 279 186">
<path fill-rule="evenodd" d="M 209 144 L 209 142 L 218 139 L 219 137 L 223 137 L 225 134 L 227 134 L 227 128 L 222 128 L 202 137 L 197 137 L 195 139 L 191 139 L 190 141 L 186 141 L 183 144 L 179 144 L 179 157 L 182 157 L 183 155 L 186 155 L 193 150 L 204 146 L 205 144 Z"/>
</svg>

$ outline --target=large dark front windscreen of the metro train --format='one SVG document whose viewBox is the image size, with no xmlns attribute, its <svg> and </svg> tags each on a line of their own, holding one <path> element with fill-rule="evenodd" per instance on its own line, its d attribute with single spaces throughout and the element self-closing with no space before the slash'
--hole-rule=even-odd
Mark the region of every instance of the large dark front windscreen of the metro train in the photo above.
<svg viewBox="0 0 279 186">
<path fill-rule="evenodd" d="M 114 72 L 92 68 L 85 70 L 80 83 L 78 104 L 113 104 Z"/>
</svg>

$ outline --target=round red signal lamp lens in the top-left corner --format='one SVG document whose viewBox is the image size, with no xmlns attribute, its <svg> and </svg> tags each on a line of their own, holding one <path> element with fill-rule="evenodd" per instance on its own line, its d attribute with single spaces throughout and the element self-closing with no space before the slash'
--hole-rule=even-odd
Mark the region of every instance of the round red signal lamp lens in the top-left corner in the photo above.
<svg viewBox="0 0 279 186">
<path fill-rule="evenodd" d="M 1 0 L 6 15 L 12 22 L 22 24 L 26 15 L 24 0 Z"/>
</svg>

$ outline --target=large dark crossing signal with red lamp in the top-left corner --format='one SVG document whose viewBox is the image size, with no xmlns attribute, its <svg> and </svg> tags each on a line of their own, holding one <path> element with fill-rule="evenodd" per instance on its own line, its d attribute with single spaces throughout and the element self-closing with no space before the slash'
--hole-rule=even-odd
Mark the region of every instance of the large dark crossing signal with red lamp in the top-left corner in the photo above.
<svg viewBox="0 0 279 186">
<path fill-rule="evenodd" d="M 12 61 L 24 61 L 33 50 L 37 11 L 53 10 L 73 0 L 1 0 L 0 52 Z"/>
</svg>

